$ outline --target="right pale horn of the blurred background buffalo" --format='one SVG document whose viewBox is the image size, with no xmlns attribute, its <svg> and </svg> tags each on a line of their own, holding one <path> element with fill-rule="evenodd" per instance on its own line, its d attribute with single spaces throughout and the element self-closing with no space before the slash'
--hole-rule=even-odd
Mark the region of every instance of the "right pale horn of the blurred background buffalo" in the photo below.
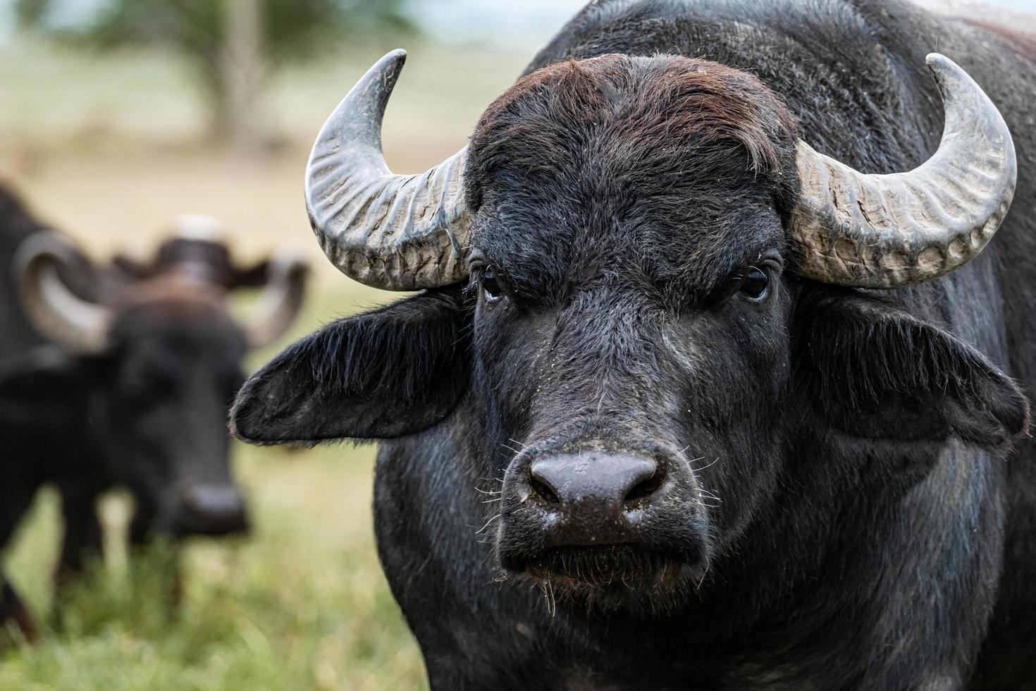
<svg viewBox="0 0 1036 691">
<path fill-rule="evenodd" d="M 309 265 L 294 252 L 283 251 L 270 261 L 255 316 L 244 326 L 250 348 L 269 345 L 288 330 L 303 305 L 308 272 Z"/>
</svg>

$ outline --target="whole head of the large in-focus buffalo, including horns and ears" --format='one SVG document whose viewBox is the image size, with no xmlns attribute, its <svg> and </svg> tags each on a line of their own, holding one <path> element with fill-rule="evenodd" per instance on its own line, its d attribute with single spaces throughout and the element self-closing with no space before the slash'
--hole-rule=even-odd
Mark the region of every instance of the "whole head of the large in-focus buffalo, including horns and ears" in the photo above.
<svg viewBox="0 0 1036 691">
<path fill-rule="evenodd" d="M 1004 449 L 1026 429 L 1025 397 L 981 352 L 856 289 L 961 266 L 1010 202 L 1006 126 L 946 58 L 929 58 L 943 144 L 894 175 L 814 151 L 748 74 L 609 55 L 523 78 L 464 151 L 396 176 L 378 121 L 401 64 L 383 58 L 332 115 L 307 199 L 344 272 L 428 290 L 278 356 L 238 398 L 243 438 L 441 424 L 498 499 L 486 530 L 506 573 L 658 608 L 780 515 L 811 445 L 889 442 L 896 460 L 869 472 L 908 487 L 946 439 Z"/>
</svg>

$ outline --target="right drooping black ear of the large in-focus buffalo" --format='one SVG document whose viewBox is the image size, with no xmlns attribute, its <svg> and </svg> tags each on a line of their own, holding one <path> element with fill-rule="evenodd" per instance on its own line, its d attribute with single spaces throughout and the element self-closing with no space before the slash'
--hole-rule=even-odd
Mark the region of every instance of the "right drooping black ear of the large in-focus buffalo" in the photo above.
<svg viewBox="0 0 1036 691">
<path fill-rule="evenodd" d="M 856 295 L 810 300 L 799 314 L 799 373 L 833 427 L 989 450 L 1028 433 L 1029 400 L 1017 384 L 948 332 Z"/>
</svg>

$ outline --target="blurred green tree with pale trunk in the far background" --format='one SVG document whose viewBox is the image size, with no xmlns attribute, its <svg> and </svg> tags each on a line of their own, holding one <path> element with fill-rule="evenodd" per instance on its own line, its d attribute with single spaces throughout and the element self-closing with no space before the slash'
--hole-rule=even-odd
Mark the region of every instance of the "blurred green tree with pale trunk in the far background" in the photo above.
<svg viewBox="0 0 1036 691">
<path fill-rule="evenodd" d="M 77 21 L 62 0 L 16 0 L 23 28 L 98 48 L 163 44 L 194 65 L 212 134 L 239 150 L 261 140 L 257 98 L 272 69 L 326 53 L 328 45 L 412 33 L 407 0 L 98 0 Z M 82 3 L 80 3 L 82 5 Z"/>
</svg>

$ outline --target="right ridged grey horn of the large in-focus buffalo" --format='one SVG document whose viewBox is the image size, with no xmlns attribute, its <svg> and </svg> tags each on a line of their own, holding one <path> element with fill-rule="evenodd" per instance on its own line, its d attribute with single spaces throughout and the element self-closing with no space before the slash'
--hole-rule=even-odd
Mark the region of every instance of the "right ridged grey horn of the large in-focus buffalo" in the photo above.
<svg viewBox="0 0 1036 691">
<path fill-rule="evenodd" d="M 803 276 L 885 289 L 930 281 L 975 257 L 1004 220 L 1017 177 L 1007 124 L 956 63 L 939 53 L 927 63 L 946 124 L 920 167 L 865 175 L 799 142 Z"/>
</svg>

